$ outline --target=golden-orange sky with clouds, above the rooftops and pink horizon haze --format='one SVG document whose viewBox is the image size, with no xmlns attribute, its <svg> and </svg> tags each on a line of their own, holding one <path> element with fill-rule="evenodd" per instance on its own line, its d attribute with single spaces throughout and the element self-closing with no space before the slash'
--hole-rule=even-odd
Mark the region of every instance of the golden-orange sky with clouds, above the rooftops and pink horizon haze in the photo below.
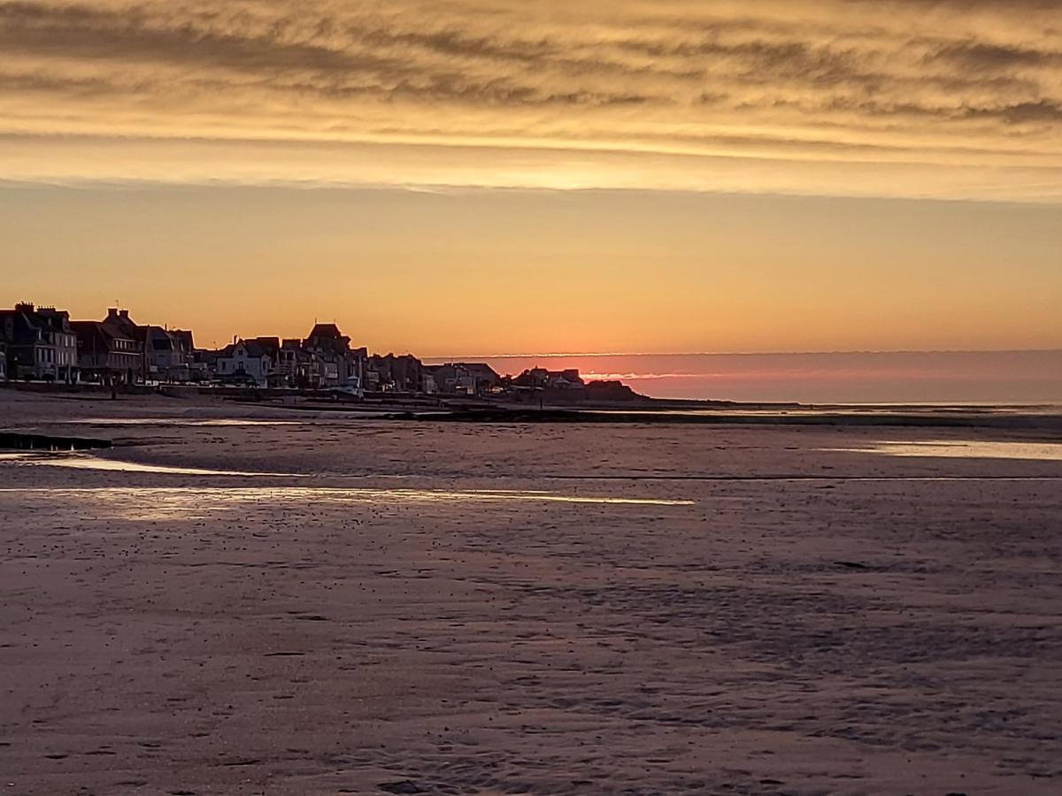
<svg viewBox="0 0 1062 796">
<path fill-rule="evenodd" d="M 1062 348 L 1056 0 L 0 0 L 0 301 L 201 344 Z"/>
</svg>

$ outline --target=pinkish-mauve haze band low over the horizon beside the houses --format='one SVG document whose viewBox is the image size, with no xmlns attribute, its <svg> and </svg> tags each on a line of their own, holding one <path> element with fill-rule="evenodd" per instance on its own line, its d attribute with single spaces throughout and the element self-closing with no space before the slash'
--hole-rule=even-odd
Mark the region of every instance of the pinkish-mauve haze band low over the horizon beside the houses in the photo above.
<svg viewBox="0 0 1062 796">
<path fill-rule="evenodd" d="M 656 398 L 802 403 L 1062 404 L 1062 349 L 838 353 L 517 354 L 501 374 L 576 367 Z"/>
</svg>

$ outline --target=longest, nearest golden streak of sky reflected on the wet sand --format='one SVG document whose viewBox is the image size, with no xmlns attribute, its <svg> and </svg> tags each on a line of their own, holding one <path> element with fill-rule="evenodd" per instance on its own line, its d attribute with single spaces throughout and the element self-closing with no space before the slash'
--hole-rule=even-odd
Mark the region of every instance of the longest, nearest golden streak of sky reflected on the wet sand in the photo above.
<svg viewBox="0 0 1062 796">
<path fill-rule="evenodd" d="M 612 498 L 601 496 L 559 495 L 541 490 L 516 489 L 373 489 L 345 487 L 29 487 L 3 488 L 4 495 L 47 496 L 49 500 L 69 500 L 91 505 L 112 516 L 132 520 L 195 519 L 215 512 L 227 512 L 255 505 L 285 503 L 305 505 L 344 505 L 355 503 L 469 503 L 539 502 L 582 503 L 590 505 L 691 506 L 692 500 L 653 498 Z"/>
</svg>

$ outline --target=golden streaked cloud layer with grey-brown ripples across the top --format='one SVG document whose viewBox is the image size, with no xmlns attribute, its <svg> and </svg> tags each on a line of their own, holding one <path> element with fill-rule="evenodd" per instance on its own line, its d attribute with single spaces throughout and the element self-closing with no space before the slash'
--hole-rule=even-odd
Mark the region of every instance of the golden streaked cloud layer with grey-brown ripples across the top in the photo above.
<svg viewBox="0 0 1062 796">
<path fill-rule="evenodd" d="M 0 0 L 0 135 L 29 159 L 0 158 L 0 178 L 165 178 L 202 142 L 227 145 L 215 179 L 290 180 L 327 143 L 354 161 L 365 146 L 435 148 L 445 162 L 423 158 L 419 175 L 417 157 L 396 160 L 422 185 L 1062 198 L 1054 2 L 568 6 Z M 108 174 L 123 141 L 136 168 L 116 158 Z M 290 154 L 256 160 L 249 141 Z M 543 153 L 583 153 L 578 179 L 570 155 Z M 658 168 L 666 157 L 682 168 Z M 304 179 L 361 181 L 326 166 Z"/>
</svg>

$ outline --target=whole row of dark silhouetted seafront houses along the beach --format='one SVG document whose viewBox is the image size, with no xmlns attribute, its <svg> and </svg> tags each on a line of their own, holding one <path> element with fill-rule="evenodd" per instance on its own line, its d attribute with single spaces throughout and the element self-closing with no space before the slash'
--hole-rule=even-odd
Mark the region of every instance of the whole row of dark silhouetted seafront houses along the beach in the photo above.
<svg viewBox="0 0 1062 796">
<path fill-rule="evenodd" d="M 583 391 L 578 370 L 533 368 L 502 377 L 481 362 L 426 365 L 413 354 L 370 354 L 352 347 L 336 324 L 315 324 L 304 339 L 236 338 L 196 348 L 187 329 L 138 324 L 110 308 L 102 321 L 71 321 L 54 307 L 0 310 L 0 381 L 44 380 L 106 386 L 200 383 L 342 390 L 353 395 L 476 395 Z"/>
</svg>

